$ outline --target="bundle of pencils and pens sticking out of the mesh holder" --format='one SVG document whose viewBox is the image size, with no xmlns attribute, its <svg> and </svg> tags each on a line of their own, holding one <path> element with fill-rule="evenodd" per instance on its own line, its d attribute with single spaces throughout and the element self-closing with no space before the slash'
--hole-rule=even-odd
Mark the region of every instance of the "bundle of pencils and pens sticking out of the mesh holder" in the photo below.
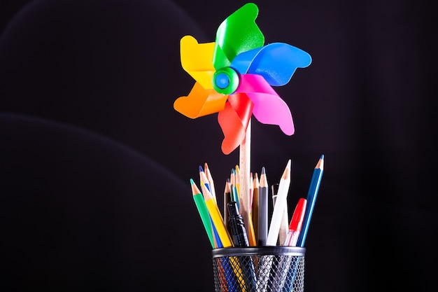
<svg viewBox="0 0 438 292">
<path fill-rule="evenodd" d="M 190 179 L 192 195 L 199 216 L 213 249 L 247 246 L 304 246 L 311 216 L 323 176 L 324 155 L 315 168 L 306 198 L 300 197 L 289 219 L 288 193 L 291 176 L 288 160 L 278 183 L 272 185 L 271 200 L 274 206 L 268 222 L 269 186 L 266 169 L 260 176 L 250 172 L 248 190 L 241 188 L 239 165 L 232 169 L 223 191 L 223 212 L 218 207 L 216 188 L 209 165 L 199 166 L 197 186 Z"/>
</svg>

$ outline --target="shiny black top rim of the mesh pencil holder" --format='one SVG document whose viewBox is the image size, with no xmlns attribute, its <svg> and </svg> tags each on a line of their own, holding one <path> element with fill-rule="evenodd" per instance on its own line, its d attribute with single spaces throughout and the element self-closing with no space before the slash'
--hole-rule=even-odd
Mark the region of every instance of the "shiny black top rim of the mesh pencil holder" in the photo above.
<svg viewBox="0 0 438 292">
<path fill-rule="evenodd" d="M 213 258 L 224 256 L 304 256 L 305 247 L 299 246 L 257 246 L 257 247 L 224 247 L 213 249 Z"/>
</svg>

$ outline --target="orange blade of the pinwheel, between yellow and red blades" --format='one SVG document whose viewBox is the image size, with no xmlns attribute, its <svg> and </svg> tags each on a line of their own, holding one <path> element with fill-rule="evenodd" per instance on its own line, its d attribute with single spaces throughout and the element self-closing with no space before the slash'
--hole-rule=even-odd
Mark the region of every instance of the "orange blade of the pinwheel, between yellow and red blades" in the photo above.
<svg viewBox="0 0 438 292">
<path fill-rule="evenodd" d="M 214 89 L 206 90 L 199 83 L 193 85 L 186 97 L 178 97 L 174 109 L 188 118 L 198 118 L 222 111 L 228 95 L 222 95 Z"/>
</svg>

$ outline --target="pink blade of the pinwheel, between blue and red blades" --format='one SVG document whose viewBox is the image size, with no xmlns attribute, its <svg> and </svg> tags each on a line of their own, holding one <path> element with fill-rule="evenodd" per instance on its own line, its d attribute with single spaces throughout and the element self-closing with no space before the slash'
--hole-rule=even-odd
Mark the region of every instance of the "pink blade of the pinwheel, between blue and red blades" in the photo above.
<svg viewBox="0 0 438 292">
<path fill-rule="evenodd" d="M 289 136 L 294 134 L 295 127 L 288 104 L 262 76 L 241 75 L 241 82 L 236 92 L 244 92 L 248 95 L 254 103 L 253 115 L 260 123 L 278 125 L 283 133 Z"/>
</svg>

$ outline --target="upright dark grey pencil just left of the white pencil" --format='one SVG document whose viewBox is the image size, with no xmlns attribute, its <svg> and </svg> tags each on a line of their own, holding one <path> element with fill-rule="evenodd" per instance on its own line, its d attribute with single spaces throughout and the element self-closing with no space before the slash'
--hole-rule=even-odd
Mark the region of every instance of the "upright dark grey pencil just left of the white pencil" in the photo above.
<svg viewBox="0 0 438 292">
<path fill-rule="evenodd" d="M 259 214 L 258 214 L 258 239 L 257 245 L 266 245 L 266 239 L 268 236 L 268 181 L 266 169 L 262 167 L 260 173 L 260 185 L 259 185 Z"/>
</svg>

